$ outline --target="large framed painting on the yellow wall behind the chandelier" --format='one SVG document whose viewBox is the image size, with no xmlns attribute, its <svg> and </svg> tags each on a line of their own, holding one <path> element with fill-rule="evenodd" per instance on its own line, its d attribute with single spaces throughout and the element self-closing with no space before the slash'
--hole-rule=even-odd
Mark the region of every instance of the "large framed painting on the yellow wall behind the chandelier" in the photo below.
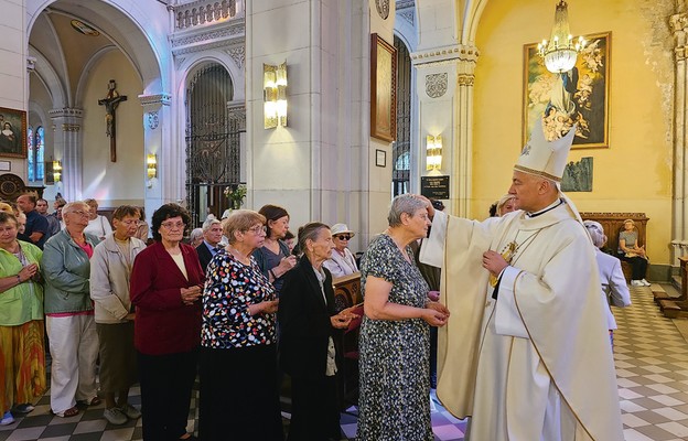
<svg viewBox="0 0 688 441">
<path fill-rule="evenodd" d="M 558 138 L 577 125 L 573 149 L 609 147 L 609 82 L 612 33 L 583 35 L 585 47 L 576 66 L 552 74 L 537 53 L 537 44 L 524 46 L 523 144 L 537 118 L 547 139 Z"/>
</svg>

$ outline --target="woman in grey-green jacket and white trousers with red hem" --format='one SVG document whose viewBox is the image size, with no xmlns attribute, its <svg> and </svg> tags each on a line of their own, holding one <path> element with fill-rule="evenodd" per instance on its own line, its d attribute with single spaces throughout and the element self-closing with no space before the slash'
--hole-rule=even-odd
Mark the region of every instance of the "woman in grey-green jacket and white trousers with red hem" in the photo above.
<svg viewBox="0 0 688 441">
<path fill-rule="evenodd" d="M 84 233 L 89 207 L 73 202 L 62 209 L 65 228 L 43 248 L 45 325 L 53 358 L 51 408 L 58 417 L 78 413 L 77 401 L 97 406 L 98 334 L 90 301 L 90 257 L 98 244 Z"/>
</svg>

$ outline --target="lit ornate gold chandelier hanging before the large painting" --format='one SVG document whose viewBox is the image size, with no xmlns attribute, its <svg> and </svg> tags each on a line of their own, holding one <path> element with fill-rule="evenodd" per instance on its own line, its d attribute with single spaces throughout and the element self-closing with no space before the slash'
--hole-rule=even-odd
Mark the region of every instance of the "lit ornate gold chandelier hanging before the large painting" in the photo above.
<svg viewBox="0 0 688 441">
<path fill-rule="evenodd" d="M 585 40 L 579 36 L 576 42 L 569 33 L 569 10 L 566 0 L 560 0 L 555 11 L 555 25 L 549 42 L 538 44 L 538 54 L 545 60 L 547 71 L 561 74 L 576 66 L 578 53 L 585 47 Z"/>
</svg>

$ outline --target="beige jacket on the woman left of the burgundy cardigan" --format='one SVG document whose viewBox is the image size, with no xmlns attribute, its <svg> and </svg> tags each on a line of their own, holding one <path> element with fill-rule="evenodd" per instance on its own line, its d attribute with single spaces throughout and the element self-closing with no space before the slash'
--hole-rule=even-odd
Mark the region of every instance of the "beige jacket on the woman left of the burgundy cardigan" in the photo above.
<svg viewBox="0 0 688 441">
<path fill-rule="evenodd" d="M 131 262 L 146 249 L 146 244 L 131 238 L 129 256 Z M 90 258 L 90 298 L 96 306 L 96 323 L 122 323 L 131 311 L 129 278 L 131 271 L 127 260 L 115 241 L 115 234 L 105 237 Z"/>
</svg>

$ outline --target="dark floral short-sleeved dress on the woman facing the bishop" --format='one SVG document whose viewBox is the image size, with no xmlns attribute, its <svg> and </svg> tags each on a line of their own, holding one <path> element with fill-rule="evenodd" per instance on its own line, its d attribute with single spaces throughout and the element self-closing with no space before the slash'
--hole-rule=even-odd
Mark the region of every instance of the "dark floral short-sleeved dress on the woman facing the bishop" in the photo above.
<svg viewBox="0 0 688 441">
<path fill-rule="evenodd" d="M 410 247 L 407 254 L 413 261 Z M 389 302 L 423 308 L 428 284 L 393 239 L 379 235 L 361 266 L 365 297 L 368 276 L 393 284 Z M 361 325 L 358 343 L 359 441 L 432 441 L 430 426 L 430 325 L 422 319 L 370 320 Z"/>
</svg>

